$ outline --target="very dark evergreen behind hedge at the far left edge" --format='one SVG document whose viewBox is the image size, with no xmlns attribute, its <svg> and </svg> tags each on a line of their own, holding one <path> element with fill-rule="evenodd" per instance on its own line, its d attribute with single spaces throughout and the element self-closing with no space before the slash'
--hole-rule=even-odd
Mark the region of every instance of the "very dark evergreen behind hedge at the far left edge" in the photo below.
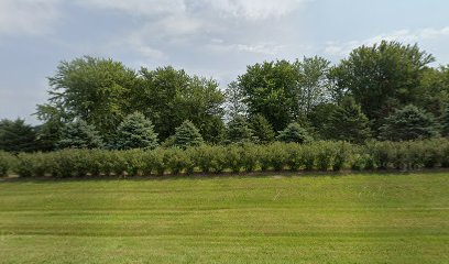
<svg viewBox="0 0 449 264">
<path fill-rule="evenodd" d="M 22 119 L 0 121 L 0 150 L 7 152 L 31 152 L 36 150 L 36 133 Z"/>
</svg>

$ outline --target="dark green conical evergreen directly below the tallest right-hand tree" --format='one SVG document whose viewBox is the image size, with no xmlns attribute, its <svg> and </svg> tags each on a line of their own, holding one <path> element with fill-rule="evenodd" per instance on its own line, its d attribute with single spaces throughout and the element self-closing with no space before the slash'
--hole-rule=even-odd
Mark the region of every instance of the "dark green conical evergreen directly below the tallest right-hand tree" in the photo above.
<svg viewBox="0 0 449 264">
<path fill-rule="evenodd" d="M 362 143 L 370 138 L 369 120 L 352 97 L 343 98 L 330 116 L 331 139 Z"/>
</svg>

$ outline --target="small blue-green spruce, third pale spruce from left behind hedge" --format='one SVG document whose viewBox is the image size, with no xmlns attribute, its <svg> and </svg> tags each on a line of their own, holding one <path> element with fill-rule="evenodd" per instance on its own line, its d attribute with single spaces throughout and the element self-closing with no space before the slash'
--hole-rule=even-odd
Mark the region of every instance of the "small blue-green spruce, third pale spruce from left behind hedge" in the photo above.
<svg viewBox="0 0 449 264">
<path fill-rule="evenodd" d="M 178 128 L 176 128 L 173 143 L 176 146 L 186 148 L 189 146 L 201 145 L 204 140 L 195 124 L 189 120 L 186 120 Z"/>
</svg>

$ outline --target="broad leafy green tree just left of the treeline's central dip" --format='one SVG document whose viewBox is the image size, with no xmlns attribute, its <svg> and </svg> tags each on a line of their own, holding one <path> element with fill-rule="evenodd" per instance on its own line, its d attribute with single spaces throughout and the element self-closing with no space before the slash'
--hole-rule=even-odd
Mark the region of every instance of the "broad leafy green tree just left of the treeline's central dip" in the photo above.
<svg viewBox="0 0 449 264">
<path fill-rule="evenodd" d="M 217 81 L 173 67 L 142 68 L 138 81 L 131 105 L 154 122 L 161 140 L 173 135 L 185 120 L 190 120 L 205 138 L 219 133 L 225 95 Z"/>
</svg>

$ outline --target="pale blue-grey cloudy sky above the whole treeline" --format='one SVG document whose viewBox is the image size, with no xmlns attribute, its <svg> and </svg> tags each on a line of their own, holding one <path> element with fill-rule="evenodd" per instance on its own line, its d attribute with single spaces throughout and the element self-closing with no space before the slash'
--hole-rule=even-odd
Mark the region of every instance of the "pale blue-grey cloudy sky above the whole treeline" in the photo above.
<svg viewBox="0 0 449 264">
<path fill-rule="evenodd" d="M 338 63 L 382 40 L 449 64 L 447 0 L 0 0 L 0 119 L 47 100 L 61 61 L 172 65 L 225 89 L 248 65 L 319 55 Z"/>
</svg>

